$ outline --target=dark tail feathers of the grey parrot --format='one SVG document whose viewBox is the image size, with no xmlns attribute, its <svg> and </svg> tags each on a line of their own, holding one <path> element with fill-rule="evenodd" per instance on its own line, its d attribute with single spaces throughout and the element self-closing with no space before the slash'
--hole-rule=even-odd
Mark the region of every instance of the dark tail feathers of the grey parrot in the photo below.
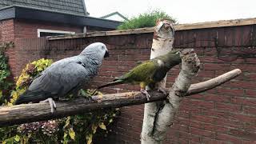
<svg viewBox="0 0 256 144">
<path fill-rule="evenodd" d="M 28 102 L 40 102 L 45 99 L 46 99 L 45 93 L 31 92 L 27 90 L 24 94 L 19 96 L 19 98 L 15 102 L 15 105 L 28 103 Z"/>
</svg>

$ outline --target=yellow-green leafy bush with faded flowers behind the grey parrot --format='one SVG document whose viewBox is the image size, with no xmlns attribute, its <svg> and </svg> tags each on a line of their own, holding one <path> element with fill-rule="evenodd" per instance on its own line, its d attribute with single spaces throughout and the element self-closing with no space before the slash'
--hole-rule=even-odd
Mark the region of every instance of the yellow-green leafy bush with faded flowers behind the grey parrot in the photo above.
<svg viewBox="0 0 256 144">
<path fill-rule="evenodd" d="M 8 106 L 12 106 L 16 99 L 27 87 L 32 79 L 52 64 L 51 60 L 39 59 L 30 62 L 18 77 L 15 90 L 12 91 Z M 88 97 L 93 90 L 80 90 L 81 97 Z M 102 94 L 100 92 L 97 95 Z M 93 142 L 95 134 L 106 136 L 107 126 L 114 122 L 119 113 L 118 109 L 106 109 L 80 114 L 66 118 L 45 122 L 31 122 L 19 126 L 0 128 L 0 142 L 2 143 L 87 143 Z"/>
</svg>

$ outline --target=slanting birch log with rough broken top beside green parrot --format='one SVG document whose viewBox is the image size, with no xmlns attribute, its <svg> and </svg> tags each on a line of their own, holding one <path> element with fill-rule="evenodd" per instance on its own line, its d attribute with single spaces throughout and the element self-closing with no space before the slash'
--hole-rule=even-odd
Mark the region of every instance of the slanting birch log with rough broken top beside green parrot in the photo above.
<svg viewBox="0 0 256 144">
<path fill-rule="evenodd" d="M 173 125 L 174 116 L 182 98 L 186 96 L 186 92 L 190 88 L 192 78 L 199 70 L 200 62 L 194 50 L 187 50 L 187 54 L 181 54 L 181 57 L 182 70 L 170 89 L 164 105 L 159 107 L 154 120 L 154 128 L 150 134 L 151 139 L 148 141 L 149 138 L 146 138 L 145 143 L 162 143 L 166 137 L 166 131 Z"/>
</svg>

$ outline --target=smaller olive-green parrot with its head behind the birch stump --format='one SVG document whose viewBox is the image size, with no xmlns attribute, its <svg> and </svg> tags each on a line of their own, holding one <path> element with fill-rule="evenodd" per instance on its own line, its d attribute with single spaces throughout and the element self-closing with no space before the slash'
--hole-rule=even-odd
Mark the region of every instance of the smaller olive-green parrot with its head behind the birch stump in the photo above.
<svg viewBox="0 0 256 144">
<path fill-rule="evenodd" d="M 162 81 L 162 79 L 166 77 L 166 73 L 180 62 L 182 62 L 182 59 L 180 58 L 179 51 L 172 50 L 167 54 L 142 62 L 128 73 L 115 78 L 113 82 L 98 86 L 97 90 L 102 89 L 103 87 L 115 86 L 124 83 L 130 83 L 133 85 L 139 84 L 141 87 L 140 91 L 142 94 L 146 94 L 146 98 L 149 100 L 150 94 L 145 90 L 146 86 L 149 86 L 150 89 L 154 89 L 155 84 Z M 159 90 L 162 91 L 161 89 Z"/>
</svg>

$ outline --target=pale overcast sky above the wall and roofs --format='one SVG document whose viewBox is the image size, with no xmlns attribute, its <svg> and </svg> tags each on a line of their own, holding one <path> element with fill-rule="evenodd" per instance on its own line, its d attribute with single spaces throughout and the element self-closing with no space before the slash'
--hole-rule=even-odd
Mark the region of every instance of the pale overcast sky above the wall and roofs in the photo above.
<svg viewBox="0 0 256 144">
<path fill-rule="evenodd" d="M 85 0 L 92 17 L 118 11 L 128 18 L 162 10 L 179 23 L 256 18 L 256 0 Z"/>
</svg>

